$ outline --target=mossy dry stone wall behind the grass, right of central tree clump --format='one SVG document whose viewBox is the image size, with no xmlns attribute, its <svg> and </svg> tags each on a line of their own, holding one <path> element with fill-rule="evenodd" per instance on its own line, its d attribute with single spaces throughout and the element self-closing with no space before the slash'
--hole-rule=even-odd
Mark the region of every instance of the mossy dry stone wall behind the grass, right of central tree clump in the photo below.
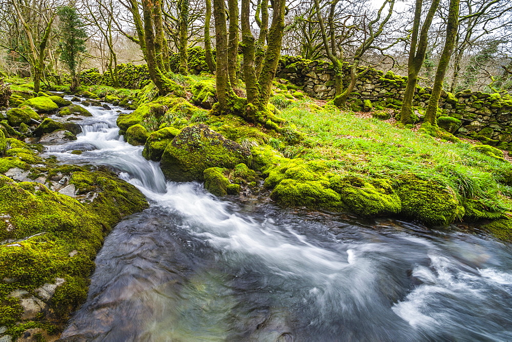
<svg viewBox="0 0 512 342">
<path fill-rule="evenodd" d="M 350 96 L 353 111 L 400 109 L 407 77 L 360 68 Z M 349 65 L 344 64 L 344 87 L 349 82 Z M 276 77 L 284 78 L 318 99 L 334 98 L 334 70 L 325 61 L 283 56 Z M 431 88 L 416 88 L 414 105 L 421 117 L 431 97 Z M 456 94 L 443 92 L 439 100 L 438 122 L 441 127 L 460 137 L 468 137 L 512 151 L 512 100 L 510 95 L 486 94 L 465 90 Z"/>
</svg>

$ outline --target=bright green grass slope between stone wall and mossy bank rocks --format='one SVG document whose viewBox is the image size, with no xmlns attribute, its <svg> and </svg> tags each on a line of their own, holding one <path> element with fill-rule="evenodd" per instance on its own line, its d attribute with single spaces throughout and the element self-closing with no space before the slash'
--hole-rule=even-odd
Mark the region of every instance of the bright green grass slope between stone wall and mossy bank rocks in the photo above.
<svg viewBox="0 0 512 342">
<path fill-rule="evenodd" d="M 468 143 L 443 142 L 335 108 L 315 110 L 310 101 L 295 101 L 282 111 L 306 134 L 301 143 L 285 147 L 285 156 L 327 160 L 335 172 L 366 177 L 414 173 L 454 189 L 460 198 L 481 199 L 489 209 L 512 207 L 512 188 L 499 182 L 512 172 L 509 162 L 473 151 Z"/>
</svg>

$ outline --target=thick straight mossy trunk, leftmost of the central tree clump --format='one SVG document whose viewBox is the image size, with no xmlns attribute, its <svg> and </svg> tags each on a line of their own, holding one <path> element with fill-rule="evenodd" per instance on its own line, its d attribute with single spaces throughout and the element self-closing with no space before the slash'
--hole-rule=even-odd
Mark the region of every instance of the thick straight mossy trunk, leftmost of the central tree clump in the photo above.
<svg viewBox="0 0 512 342">
<path fill-rule="evenodd" d="M 213 0 L 214 19 L 215 19 L 215 39 L 216 39 L 216 74 L 215 83 L 217 89 L 218 103 L 215 105 L 217 114 L 225 113 L 229 110 L 230 98 L 234 95 L 229 82 L 228 72 L 228 51 L 227 51 L 227 24 L 226 24 L 226 6 L 224 0 Z"/>
</svg>

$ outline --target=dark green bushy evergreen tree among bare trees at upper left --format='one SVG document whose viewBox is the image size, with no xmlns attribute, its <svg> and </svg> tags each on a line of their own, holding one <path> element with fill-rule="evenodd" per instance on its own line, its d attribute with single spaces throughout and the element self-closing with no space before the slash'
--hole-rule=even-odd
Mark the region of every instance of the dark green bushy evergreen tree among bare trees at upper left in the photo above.
<svg viewBox="0 0 512 342">
<path fill-rule="evenodd" d="M 74 7 L 59 7 L 59 59 L 71 73 L 71 90 L 80 87 L 80 56 L 86 52 L 87 34 Z"/>
</svg>

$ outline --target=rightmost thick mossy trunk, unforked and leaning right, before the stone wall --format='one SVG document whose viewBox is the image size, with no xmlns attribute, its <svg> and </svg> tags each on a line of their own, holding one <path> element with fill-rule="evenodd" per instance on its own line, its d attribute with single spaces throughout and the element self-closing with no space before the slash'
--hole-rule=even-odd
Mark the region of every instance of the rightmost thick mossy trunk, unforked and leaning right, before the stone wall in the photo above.
<svg viewBox="0 0 512 342">
<path fill-rule="evenodd" d="M 443 51 L 439 58 L 437 65 L 436 78 L 434 79 L 434 86 L 432 87 L 432 96 L 429 99 L 429 105 L 426 108 L 423 126 L 435 125 L 437 126 L 437 109 L 439 108 L 439 98 L 443 90 L 444 76 L 450 64 L 450 57 L 452 56 L 455 47 L 455 40 L 457 31 L 459 29 L 459 5 L 460 0 L 450 0 L 450 8 L 448 11 L 448 20 L 446 23 L 446 38 L 444 41 Z"/>
</svg>

